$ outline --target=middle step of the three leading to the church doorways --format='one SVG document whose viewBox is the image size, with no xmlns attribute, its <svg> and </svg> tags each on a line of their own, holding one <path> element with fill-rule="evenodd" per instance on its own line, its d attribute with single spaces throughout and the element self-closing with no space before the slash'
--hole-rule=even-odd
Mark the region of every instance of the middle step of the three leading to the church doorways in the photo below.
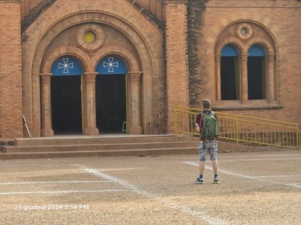
<svg viewBox="0 0 301 225">
<path fill-rule="evenodd" d="M 105 151 L 155 148 L 198 147 L 197 142 L 156 142 L 156 143 L 113 143 L 113 144 L 84 144 L 84 145 L 42 145 L 42 146 L 4 146 L 5 153 L 18 152 L 65 152 L 65 151 Z"/>
</svg>

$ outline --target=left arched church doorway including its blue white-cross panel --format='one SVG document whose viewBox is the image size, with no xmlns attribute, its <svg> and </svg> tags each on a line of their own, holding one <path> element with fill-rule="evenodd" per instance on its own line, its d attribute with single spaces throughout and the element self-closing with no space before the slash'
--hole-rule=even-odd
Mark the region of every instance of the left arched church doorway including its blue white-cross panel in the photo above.
<svg viewBox="0 0 301 225">
<path fill-rule="evenodd" d="M 54 134 L 81 134 L 82 67 L 77 60 L 62 57 L 53 63 L 51 73 L 51 122 Z"/>
</svg>

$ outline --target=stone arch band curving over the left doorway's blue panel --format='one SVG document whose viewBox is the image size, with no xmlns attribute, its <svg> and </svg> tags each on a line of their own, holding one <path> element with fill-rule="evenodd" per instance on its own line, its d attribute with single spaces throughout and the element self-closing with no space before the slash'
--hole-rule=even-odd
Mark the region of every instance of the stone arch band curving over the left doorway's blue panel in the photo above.
<svg viewBox="0 0 301 225">
<path fill-rule="evenodd" d="M 78 62 L 81 64 L 83 72 L 89 72 L 91 66 L 91 60 L 89 55 L 80 48 L 76 48 L 73 46 L 63 46 L 54 49 L 50 52 L 41 66 L 41 73 L 46 74 L 50 73 L 51 66 L 53 65 L 54 61 L 62 56 L 73 56 Z"/>
</svg>

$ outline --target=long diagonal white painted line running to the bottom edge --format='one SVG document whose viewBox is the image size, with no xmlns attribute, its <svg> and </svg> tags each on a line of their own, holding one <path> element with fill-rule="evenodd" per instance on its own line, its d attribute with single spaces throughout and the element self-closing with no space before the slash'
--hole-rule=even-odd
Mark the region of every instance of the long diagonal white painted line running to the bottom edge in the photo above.
<svg viewBox="0 0 301 225">
<path fill-rule="evenodd" d="M 182 211 L 182 212 L 185 212 L 185 213 L 190 214 L 192 216 L 196 216 L 198 218 L 201 218 L 202 220 L 205 220 L 208 224 L 211 224 L 211 225 L 228 225 L 227 222 L 222 221 L 222 220 L 220 220 L 218 218 L 212 217 L 212 216 L 208 215 L 206 212 L 200 212 L 200 211 L 195 210 L 193 208 L 185 207 L 183 205 L 175 205 L 175 204 L 173 204 L 173 203 L 165 200 L 162 197 L 153 195 L 153 194 L 151 194 L 151 193 L 149 193 L 147 191 L 144 191 L 144 190 L 140 190 L 135 185 L 129 184 L 126 181 L 123 181 L 121 179 L 118 179 L 116 177 L 113 177 L 113 176 L 110 176 L 110 175 L 107 175 L 107 174 L 104 174 L 104 173 L 101 173 L 98 170 L 93 169 L 93 168 L 89 168 L 89 167 L 87 167 L 85 165 L 81 165 L 81 164 L 75 164 L 75 165 L 78 166 L 80 169 L 88 172 L 88 173 L 94 174 L 97 177 L 100 177 L 100 178 L 103 178 L 103 179 L 107 179 L 107 180 L 110 180 L 110 181 L 114 181 L 114 182 L 118 182 L 122 186 L 124 186 L 124 187 L 126 187 L 128 189 L 131 189 L 132 191 L 138 193 L 139 195 L 142 195 L 142 196 L 147 197 L 147 198 L 155 199 L 155 200 L 161 202 L 165 206 L 168 206 L 168 207 L 176 209 L 178 211 Z"/>
</svg>

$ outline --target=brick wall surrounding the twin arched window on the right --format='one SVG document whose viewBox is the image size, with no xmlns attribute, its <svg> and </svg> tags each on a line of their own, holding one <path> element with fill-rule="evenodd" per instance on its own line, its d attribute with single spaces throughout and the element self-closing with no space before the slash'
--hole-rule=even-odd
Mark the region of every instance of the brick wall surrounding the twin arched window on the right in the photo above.
<svg viewBox="0 0 301 225">
<path fill-rule="evenodd" d="M 301 26 L 298 22 L 301 21 L 300 7 L 299 0 L 189 0 L 190 106 L 201 107 L 202 99 L 215 98 L 214 48 L 220 32 L 234 21 L 254 21 L 271 32 L 276 41 L 276 88 L 278 103 L 283 105 L 283 109 L 240 109 L 224 112 L 301 124 L 301 104 L 298 100 L 301 95 Z M 283 116 L 288 111 L 292 117 Z"/>
</svg>

